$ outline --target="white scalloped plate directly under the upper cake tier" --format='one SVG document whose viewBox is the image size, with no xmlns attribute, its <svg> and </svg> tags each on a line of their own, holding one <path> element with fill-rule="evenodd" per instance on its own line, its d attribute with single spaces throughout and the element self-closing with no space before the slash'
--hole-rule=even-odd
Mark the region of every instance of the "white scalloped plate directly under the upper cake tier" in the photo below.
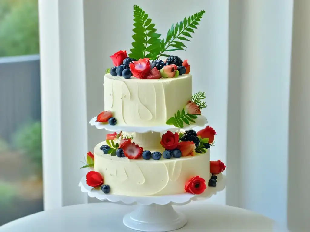
<svg viewBox="0 0 310 232">
<path fill-rule="evenodd" d="M 91 126 L 95 126 L 97 129 L 106 129 L 107 131 L 126 131 L 126 132 L 136 132 L 136 133 L 147 133 L 147 132 L 163 132 L 163 131 L 177 131 L 177 130 L 189 130 L 194 127 L 203 127 L 208 123 L 207 118 L 202 115 L 197 115 L 195 119 L 196 123 L 191 125 L 184 125 L 183 128 L 176 128 L 173 125 L 163 125 L 163 126 L 150 126 L 150 127 L 137 127 L 137 126 L 111 126 L 107 123 L 96 122 L 97 116 L 92 118 L 89 123 Z"/>
</svg>

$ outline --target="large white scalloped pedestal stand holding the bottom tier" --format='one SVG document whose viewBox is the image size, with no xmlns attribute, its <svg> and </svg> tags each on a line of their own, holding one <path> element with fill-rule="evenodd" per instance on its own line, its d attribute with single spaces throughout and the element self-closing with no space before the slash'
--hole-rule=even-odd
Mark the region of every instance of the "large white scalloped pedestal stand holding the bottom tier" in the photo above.
<svg viewBox="0 0 310 232">
<path fill-rule="evenodd" d="M 92 190 L 86 184 L 83 177 L 79 183 L 82 192 L 87 192 L 88 196 L 95 197 L 102 201 L 117 202 L 122 204 L 138 204 L 139 206 L 131 213 L 123 217 L 123 223 L 130 229 L 146 232 L 165 232 L 177 230 L 186 225 L 187 219 L 182 213 L 177 213 L 172 205 L 185 205 L 191 201 L 205 200 L 224 190 L 226 186 L 226 176 L 219 174 L 216 187 L 207 187 L 206 191 L 200 195 L 176 194 L 166 196 L 122 196 L 104 194 L 101 190 Z"/>
</svg>

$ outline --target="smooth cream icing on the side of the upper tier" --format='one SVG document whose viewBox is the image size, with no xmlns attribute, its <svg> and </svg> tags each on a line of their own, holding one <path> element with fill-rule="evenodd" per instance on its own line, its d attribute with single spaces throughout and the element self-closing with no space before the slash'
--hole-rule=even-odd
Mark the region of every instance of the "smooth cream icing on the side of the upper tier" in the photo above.
<svg viewBox="0 0 310 232">
<path fill-rule="evenodd" d="M 192 76 L 161 79 L 125 79 L 104 76 L 104 110 L 118 125 L 164 125 L 192 97 Z"/>
</svg>

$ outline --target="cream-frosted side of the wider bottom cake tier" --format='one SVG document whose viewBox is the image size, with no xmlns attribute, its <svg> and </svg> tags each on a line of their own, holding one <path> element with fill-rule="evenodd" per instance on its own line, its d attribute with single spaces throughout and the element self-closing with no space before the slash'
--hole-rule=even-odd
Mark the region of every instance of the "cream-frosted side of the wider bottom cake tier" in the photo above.
<svg viewBox="0 0 310 232">
<path fill-rule="evenodd" d="M 211 177 L 210 153 L 160 160 L 130 160 L 104 154 L 95 147 L 95 171 L 104 178 L 112 194 L 127 196 L 173 195 L 184 193 L 186 182 L 195 176 Z"/>
</svg>

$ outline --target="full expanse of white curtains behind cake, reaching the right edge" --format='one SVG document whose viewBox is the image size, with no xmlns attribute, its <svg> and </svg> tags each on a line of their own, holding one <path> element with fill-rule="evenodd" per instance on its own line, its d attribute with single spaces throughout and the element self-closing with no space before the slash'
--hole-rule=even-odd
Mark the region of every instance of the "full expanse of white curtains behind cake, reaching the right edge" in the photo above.
<svg viewBox="0 0 310 232">
<path fill-rule="evenodd" d="M 48 209 L 86 202 L 76 186 L 83 175 L 78 163 L 105 135 L 87 122 L 103 108 L 109 54 L 131 48 L 133 3 L 39 3 Z M 208 107 L 203 114 L 218 132 L 211 159 L 228 166 L 227 188 L 211 201 L 288 222 L 292 229 L 310 228 L 310 1 L 135 4 L 148 12 L 162 34 L 184 16 L 206 10 L 193 42 L 176 55 L 191 61 L 193 92 L 206 91 Z M 76 124 L 68 123 L 72 114 Z"/>
</svg>

